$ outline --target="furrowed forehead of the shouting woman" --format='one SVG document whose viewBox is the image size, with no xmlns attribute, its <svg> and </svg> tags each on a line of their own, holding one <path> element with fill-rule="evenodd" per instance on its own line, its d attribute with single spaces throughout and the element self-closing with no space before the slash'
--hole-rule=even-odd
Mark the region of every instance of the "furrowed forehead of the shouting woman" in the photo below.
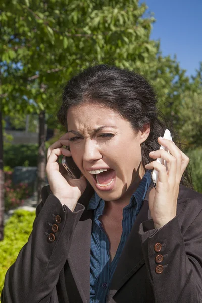
<svg viewBox="0 0 202 303">
<path fill-rule="evenodd" d="M 68 130 L 91 129 L 101 125 L 121 126 L 129 124 L 112 109 L 93 103 L 83 103 L 79 106 L 71 106 L 67 113 Z"/>
</svg>

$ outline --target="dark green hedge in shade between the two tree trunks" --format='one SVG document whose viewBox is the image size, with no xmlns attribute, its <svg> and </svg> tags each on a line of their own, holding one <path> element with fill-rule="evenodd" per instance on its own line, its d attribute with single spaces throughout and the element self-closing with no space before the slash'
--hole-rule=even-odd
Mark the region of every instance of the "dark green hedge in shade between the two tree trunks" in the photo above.
<svg viewBox="0 0 202 303">
<path fill-rule="evenodd" d="M 4 165 L 37 166 L 38 144 L 5 144 Z"/>
</svg>

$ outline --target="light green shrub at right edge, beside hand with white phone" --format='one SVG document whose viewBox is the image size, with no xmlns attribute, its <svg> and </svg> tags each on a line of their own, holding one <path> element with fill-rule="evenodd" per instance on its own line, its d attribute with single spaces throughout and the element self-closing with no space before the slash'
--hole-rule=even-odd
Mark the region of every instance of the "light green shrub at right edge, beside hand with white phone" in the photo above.
<svg viewBox="0 0 202 303">
<path fill-rule="evenodd" d="M 194 189 L 202 193 L 202 148 L 188 150 L 185 154 L 190 158 Z"/>
</svg>

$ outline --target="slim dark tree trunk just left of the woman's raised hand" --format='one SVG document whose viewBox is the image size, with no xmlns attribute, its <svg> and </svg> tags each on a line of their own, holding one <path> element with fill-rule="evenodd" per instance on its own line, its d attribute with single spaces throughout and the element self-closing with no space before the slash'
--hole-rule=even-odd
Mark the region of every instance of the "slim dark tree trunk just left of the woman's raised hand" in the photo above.
<svg viewBox="0 0 202 303">
<path fill-rule="evenodd" d="M 39 149 L 38 149 L 38 175 L 37 175 L 37 200 L 41 201 L 41 188 L 45 185 L 46 179 L 46 154 L 45 154 L 45 111 L 39 114 Z"/>
</svg>

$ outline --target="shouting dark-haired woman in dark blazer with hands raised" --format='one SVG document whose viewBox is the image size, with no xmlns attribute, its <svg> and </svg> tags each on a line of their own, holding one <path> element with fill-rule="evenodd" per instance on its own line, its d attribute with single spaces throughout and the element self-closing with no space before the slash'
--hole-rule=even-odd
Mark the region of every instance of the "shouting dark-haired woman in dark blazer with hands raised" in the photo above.
<svg viewBox="0 0 202 303">
<path fill-rule="evenodd" d="M 48 149 L 49 186 L 2 302 L 201 302 L 201 195 L 180 184 L 189 159 L 161 137 L 156 103 L 142 76 L 116 67 L 67 83 L 67 133 Z M 80 179 L 61 170 L 61 155 Z"/>
</svg>

